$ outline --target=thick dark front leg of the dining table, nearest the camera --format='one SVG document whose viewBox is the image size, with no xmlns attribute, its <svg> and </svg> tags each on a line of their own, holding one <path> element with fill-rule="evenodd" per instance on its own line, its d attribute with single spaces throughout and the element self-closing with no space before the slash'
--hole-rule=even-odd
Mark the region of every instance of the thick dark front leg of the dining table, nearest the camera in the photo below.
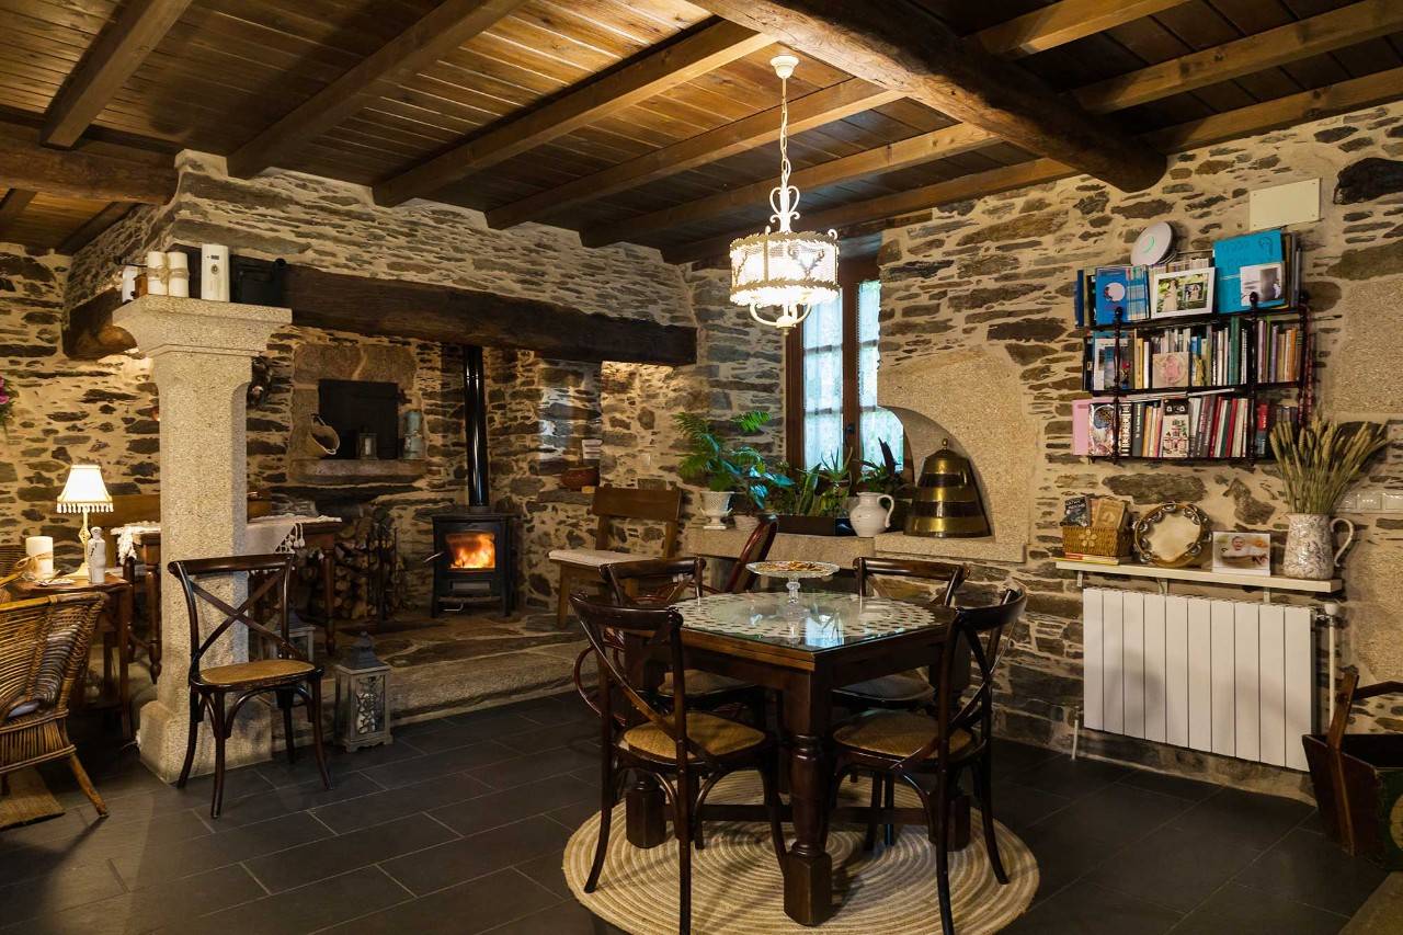
<svg viewBox="0 0 1403 935">
<path fill-rule="evenodd" d="M 822 925 L 833 914 L 833 859 L 828 855 L 828 685 L 804 675 L 784 692 L 790 730 L 790 806 L 794 844 L 784 863 L 784 914 L 800 925 Z"/>
</svg>

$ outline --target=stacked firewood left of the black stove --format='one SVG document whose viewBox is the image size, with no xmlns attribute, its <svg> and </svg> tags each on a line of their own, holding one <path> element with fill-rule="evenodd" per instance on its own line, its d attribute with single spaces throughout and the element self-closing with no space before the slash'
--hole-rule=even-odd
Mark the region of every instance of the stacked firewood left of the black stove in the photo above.
<svg viewBox="0 0 1403 935">
<path fill-rule="evenodd" d="M 362 621 L 386 616 L 410 604 L 410 583 L 404 559 L 398 550 L 398 535 L 389 515 L 347 519 L 337 532 L 334 553 L 335 606 L 338 621 Z M 321 573 L 317 562 L 302 569 L 303 584 L 310 594 L 310 611 L 323 615 Z"/>
</svg>

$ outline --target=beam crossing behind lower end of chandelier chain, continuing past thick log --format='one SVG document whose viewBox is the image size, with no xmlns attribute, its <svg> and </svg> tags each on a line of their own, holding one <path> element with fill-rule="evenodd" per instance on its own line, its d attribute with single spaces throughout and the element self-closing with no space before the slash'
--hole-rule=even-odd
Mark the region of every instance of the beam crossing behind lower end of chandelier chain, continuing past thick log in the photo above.
<svg viewBox="0 0 1403 935">
<path fill-rule="evenodd" d="M 1097 111 L 1118 111 L 1209 84 L 1216 80 L 1212 77 L 1216 74 L 1214 69 L 1222 69 L 1228 77 L 1239 77 L 1296 58 L 1364 42 L 1400 28 L 1403 28 L 1403 3 L 1361 0 L 1352 6 L 1260 34 L 1260 37 L 1270 37 L 1268 42 L 1258 41 L 1260 37 L 1236 39 L 1162 65 L 1148 66 L 1111 81 L 1087 86 L 1075 94 Z M 1294 49 L 1294 52 L 1288 52 L 1288 49 Z M 1174 80 L 1177 74 L 1184 76 L 1183 81 Z M 1115 87 L 1108 87 L 1110 84 Z M 961 128 L 964 128 L 964 133 L 960 132 Z M 944 159 L 978 149 L 984 143 L 999 142 L 993 133 L 985 133 L 981 140 L 978 133 L 969 132 L 971 129 L 967 125 L 957 125 L 912 136 L 880 149 L 801 168 L 794 173 L 793 180 L 801 190 L 814 190 Z M 718 218 L 737 209 L 765 204 L 772 185 L 772 180 L 758 181 L 637 218 L 586 227 L 581 232 L 581 240 L 588 246 L 599 247 L 696 220 Z M 805 223 L 812 223 L 812 219 L 807 219 Z"/>
</svg>

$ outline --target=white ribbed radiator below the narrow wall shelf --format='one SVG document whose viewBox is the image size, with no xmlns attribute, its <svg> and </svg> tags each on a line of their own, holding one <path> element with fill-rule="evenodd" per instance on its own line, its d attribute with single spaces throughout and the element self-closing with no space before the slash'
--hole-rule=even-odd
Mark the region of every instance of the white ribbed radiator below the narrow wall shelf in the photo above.
<svg viewBox="0 0 1403 935">
<path fill-rule="evenodd" d="M 1086 727 L 1306 768 L 1309 608 L 1110 588 L 1082 601 Z"/>
</svg>

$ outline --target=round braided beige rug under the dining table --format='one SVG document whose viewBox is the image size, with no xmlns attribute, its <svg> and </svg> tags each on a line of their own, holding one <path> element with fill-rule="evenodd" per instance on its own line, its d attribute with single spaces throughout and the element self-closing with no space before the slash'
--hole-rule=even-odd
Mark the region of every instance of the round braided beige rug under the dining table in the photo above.
<svg viewBox="0 0 1403 935">
<path fill-rule="evenodd" d="M 867 804 L 870 781 L 843 783 L 843 804 Z M 760 779 L 753 772 L 728 776 L 707 802 L 760 802 Z M 897 790 L 897 804 L 919 807 L 911 789 Z M 993 879 L 979 814 L 969 847 L 950 855 L 950 890 L 955 928 L 961 935 L 996 932 L 1017 918 L 1038 889 L 1038 865 L 1027 845 L 996 824 L 999 855 L 1009 872 L 1007 886 Z M 824 922 L 824 932 L 853 935 L 930 935 L 940 931 L 936 898 L 936 851 L 923 827 L 902 828 L 891 848 L 863 851 L 863 828 L 835 825 L 828 835 L 833 858 L 833 894 L 840 907 Z M 565 880 L 591 913 L 631 935 L 675 932 L 678 927 L 676 841 L 643 849 L 624 834 L 624 806 L 615 809 L 609 854 L 599 887 L 585 893 L 599 835 L 592 816 L 565 845 Z M 807 932 L 784 915 L 784 886 L 763 823 L 709 821 L 706 849 L 692 856 L 692 931 L 704 935 L 767 935 Z"/>
</svg>

